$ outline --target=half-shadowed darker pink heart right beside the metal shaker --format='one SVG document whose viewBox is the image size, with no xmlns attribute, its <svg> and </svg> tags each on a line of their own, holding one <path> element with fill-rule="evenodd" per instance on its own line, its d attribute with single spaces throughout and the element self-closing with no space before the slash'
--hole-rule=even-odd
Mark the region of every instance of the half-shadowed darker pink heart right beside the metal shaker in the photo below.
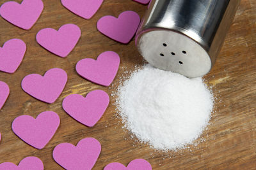
<svg viewBox="0 0 256 170">
<path fill-rule="evenodd" d="M 124 11 L 118 18 L 104 16 L 97 22 L 97 29 L 115 41 L 127 44 L 140 24 L 140 16 L 134 11 Z"/>
</svg>

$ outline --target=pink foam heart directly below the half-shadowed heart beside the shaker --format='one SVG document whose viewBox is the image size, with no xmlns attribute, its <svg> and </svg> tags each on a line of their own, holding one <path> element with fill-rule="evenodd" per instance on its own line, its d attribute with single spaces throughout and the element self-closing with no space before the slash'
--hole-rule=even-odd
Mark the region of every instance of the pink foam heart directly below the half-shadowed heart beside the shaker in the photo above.
<svg viewBox="0 0 256 170">
<path fill-rule="evenodd" d="M 80 76 L 93 83 L 109 86 L 116 76 L 119 64 L 119 55 L 108 51 L 101 53 L 97 60 L 79 60 L 76 64 L 76 71 Z"/>
</svg>

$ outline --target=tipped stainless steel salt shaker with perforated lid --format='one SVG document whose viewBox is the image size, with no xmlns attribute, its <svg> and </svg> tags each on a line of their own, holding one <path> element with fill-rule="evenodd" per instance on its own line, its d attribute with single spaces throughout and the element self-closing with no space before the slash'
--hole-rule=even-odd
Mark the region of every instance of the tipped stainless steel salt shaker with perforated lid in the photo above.
<svg viewBox="0 0 256 170">
<path fill-rule="evenodd" d="M 136 46 L 152 65 L 188 77 L 214 64 L 240 0 L 152 0 Z"/>
</svg>

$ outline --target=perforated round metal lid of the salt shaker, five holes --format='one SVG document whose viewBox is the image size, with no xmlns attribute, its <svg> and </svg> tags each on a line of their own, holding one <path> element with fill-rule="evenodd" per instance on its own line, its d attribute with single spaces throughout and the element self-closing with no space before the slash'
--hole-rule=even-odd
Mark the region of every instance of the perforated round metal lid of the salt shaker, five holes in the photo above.
<svg viewBox="0 0 256 170">
<path fill-rule="evenodd" d="M 138 41 L 138 49 L 149 64 L 159 69 L 191 78 L 204 76 L 211 70 L 211 58 L 204 48 L 178 32 L 144 33 Z"/>
</svg>

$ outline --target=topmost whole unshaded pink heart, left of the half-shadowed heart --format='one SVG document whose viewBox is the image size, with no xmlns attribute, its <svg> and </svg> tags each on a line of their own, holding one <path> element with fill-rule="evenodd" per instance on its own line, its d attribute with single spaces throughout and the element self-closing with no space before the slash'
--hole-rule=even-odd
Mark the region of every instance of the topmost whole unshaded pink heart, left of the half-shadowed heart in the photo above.
<svg viewBox="0 0 256 170">
<path fill-rule="evenodd" d="M 81 36 L 80 28 L 75 24 L 62 25 L 58 31 L 51 28 L 40 30 L 36 34 L 36 41 L 49 52 L 60 57 L 67 55 L 76 46 Z"/>
</svg>

